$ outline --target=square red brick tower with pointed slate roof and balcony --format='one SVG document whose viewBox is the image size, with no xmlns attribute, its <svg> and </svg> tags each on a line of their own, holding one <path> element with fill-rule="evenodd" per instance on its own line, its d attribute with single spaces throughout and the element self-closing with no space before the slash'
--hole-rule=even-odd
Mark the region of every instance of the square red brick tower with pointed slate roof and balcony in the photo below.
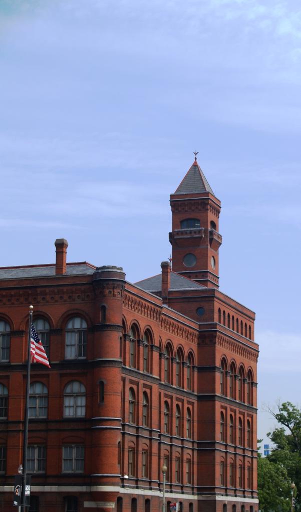
<svg viewBox="0 0 301 512">
<path fill-rule="evenodd" d="M 196 154 L 195 154 L 196 155 Z M 220 201 L 195 156 L 186 176 L 170 196 L 172 270 L 209 288 L 218 288 Z"/>
</svg>

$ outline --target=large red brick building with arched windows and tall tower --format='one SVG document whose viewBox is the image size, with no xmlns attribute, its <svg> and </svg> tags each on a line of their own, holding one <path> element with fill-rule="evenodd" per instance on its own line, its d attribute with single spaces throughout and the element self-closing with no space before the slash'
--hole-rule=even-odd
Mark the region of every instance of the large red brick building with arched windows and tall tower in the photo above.
<svg viewBox="0 0 301 512">
<path fill-rule="evenodd" d="M 255 315 L 218 289 L 220 202 L 195 160 L 171 195 L 172 270 L 0 269 L 0 509 L 22 461 L 29 305 L 31 512 L 257 512 Z"/>
</svg>

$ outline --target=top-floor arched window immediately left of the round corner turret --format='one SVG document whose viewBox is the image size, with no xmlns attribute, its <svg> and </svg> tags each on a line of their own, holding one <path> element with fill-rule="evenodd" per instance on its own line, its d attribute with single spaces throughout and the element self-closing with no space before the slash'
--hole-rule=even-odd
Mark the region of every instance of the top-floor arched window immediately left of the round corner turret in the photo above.
<svg viewBox="0 0 301 512">
<path fill-rule="evenodd" d="M 87 353 L 87 323 L 84 318 L 74 316 L 66 326 L 66 359 L 86 357 Z"/>
</svg>

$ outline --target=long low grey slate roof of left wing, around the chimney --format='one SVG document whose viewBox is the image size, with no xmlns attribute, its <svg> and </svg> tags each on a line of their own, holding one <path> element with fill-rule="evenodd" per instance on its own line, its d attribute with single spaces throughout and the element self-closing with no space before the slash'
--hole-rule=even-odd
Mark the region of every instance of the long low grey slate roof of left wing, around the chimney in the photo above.
<svg viewBox="0 0 301 512">
<path fill-rule="evenodd" d="M 67 263 L 64 275 L 93 274 L 95 267 L 89 263 Z M 55 275 L 55 265 L 0 268 L 1 279 L 46 278 Z"/>
</svg>

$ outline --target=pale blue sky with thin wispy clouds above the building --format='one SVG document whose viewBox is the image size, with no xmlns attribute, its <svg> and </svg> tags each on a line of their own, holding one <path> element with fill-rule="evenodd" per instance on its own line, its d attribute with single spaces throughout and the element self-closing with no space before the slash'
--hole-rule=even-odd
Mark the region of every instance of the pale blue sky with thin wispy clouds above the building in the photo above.
<svg viewBox="0 0 301 512">
<path fill-rule="evenodd" d="M 257 314 L 259 408 L 298 403 L 300 63 L 296 0 L 0 0 L 0 265 L 66 238 L 69 261 L 158 273 L 196 149 L 220 288 Z"/>
</svg>

